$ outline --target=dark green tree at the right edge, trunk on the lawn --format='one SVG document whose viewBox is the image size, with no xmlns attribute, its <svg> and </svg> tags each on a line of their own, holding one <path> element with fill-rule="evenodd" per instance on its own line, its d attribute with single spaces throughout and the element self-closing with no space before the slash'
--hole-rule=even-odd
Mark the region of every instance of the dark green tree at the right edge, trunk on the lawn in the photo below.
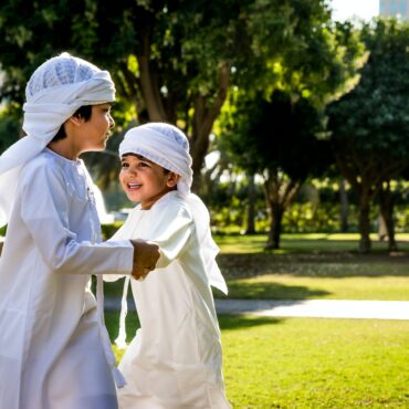
<svg viewBox="0 0 409 409">
<path fill-rule="evenodd" d="M 360 81 L 327 113 L 337 166 L 359 198 L 359 250 L 367 253 L 370 203 L 382 185 L 407 166 L 409 27 L 378 20 L 363 27 L 361 39 L 370 55 Z M 388 189 L 382 193 L 384 202 L 387 195 Z"/>
</svg>

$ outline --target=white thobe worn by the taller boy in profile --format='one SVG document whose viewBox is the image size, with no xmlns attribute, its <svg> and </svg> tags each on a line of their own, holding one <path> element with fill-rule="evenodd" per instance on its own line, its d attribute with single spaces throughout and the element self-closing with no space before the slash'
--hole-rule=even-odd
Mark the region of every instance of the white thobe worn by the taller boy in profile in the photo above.
<svg viewBox="0 0 409 409">
<path fill-rule="evenodd" d="M 44 149 L 15 183 L 0 258 L 0 409 L 117 408 L 90 274 L 129 274 L 133 248 L 96 244 L 82 160 Z"/>
</svg>

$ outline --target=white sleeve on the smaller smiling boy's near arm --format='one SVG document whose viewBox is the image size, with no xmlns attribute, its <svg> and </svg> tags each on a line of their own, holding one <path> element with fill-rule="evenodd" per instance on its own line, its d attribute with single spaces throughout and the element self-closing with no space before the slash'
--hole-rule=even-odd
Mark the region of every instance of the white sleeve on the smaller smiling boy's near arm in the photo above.
<svg viewBox="0 0 409 409">
<path fill-rule="evenodd" d="M 162 269 L 183 252 L 195 230 L 195 222 L 187 208 L 178 202 L 156 208 L 151 220 L 146 239 L 159 245 L 160 256 L 156 268 Z"/>
</svg>

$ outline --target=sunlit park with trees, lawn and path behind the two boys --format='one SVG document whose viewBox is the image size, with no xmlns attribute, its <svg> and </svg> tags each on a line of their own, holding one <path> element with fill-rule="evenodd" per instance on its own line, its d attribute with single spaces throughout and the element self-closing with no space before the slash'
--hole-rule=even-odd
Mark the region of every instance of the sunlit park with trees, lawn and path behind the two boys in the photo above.
<svg viewBox="0 0 409 409">
<path fill-rule="evenodd" d="M 409 407 L 409 23 L 332 13 L 325 0 L 0 4 L 1 153 L 24 137 L 24 84 L 44 61 L 70 52 L 112 75 L 115 127 L 82 155 L 103 240 L 134 206 L 118 181 L 127 129 L 187 135 L 229 289 L 212 294 L 237 409 Z M 104 284 L 116 363 L 123 285 Z M 258 302 L 270 312 L 244 307 Z M 338 317 L 277 313 L 323 302 Z"/>
</svg>

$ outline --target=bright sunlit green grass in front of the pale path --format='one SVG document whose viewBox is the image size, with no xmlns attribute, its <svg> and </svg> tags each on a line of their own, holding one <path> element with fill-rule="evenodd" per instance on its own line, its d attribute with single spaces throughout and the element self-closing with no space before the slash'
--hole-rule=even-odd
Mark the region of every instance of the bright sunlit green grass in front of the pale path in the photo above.
<svg viewBox="0 0 409 409">
<path fill-rule="evenodd" d="M 117 319 L 117 313 L 106 314 L 112 338 Z M 235 409 L 409 407 L 409 322 L 219 321 L 226 386 Z M 135 314 L 127 323 L 132 335 Z M 122 352 L 116 354 L 119 359 Z"/>
</svg>

